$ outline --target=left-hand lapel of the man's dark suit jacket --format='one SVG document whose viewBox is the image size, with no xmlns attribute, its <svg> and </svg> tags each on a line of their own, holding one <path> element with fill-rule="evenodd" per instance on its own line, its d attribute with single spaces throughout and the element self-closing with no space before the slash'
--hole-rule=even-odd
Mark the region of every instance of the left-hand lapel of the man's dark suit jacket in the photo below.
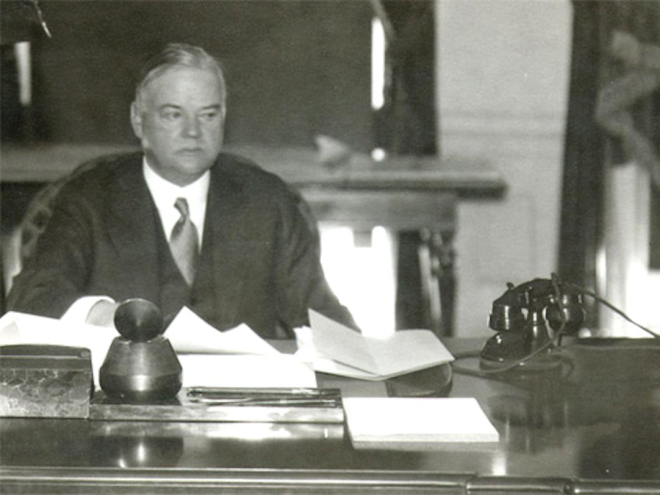
<svg viewBox="0 0 660 495">
<path fill-rule="evenodd" d="M 123 283 L 131 288 L 128 292 L 159 304 L 160 222 L 142 174 L 141 155 L 131 160 L 134 163 L 113 184 L 116 201 L 110 211 L 109 235 L 121 267 L 118 273 L 123 274 Z"/>
</svg>

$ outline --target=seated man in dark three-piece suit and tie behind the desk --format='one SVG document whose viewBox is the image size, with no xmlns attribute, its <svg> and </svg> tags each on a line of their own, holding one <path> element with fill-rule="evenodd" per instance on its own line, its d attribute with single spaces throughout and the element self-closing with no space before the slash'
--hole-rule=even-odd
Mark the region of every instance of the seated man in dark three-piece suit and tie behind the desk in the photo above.
<svg viewBox="0 0 660 495">
<path fill-rule="evenodd" d="M 80 173 L 59 192 L 10 310 L 108 324 L 141 297 L 188 306 L 220 330 L 291 335 L 313 308 L 355 327 L 330 290 L 295 194 L 221 152 L 226 85 L 204 50 L 171 44 L 143 68 L 131 123 L 143 153 Z"/>
</svg>

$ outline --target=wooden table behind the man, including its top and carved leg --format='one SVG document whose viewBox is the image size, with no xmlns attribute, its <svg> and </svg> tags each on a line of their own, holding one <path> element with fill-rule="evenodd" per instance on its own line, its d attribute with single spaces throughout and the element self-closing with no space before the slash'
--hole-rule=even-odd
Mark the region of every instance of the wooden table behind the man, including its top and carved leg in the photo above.
<svg viewBox="0 0 660 495">
<path fill-rule="evenodd" d="M 6 146 L 2 182 L 34 184 L 57 179 L 85 160 L 132 147 L 49 145 Z M 422 294 L 428 326 L 440 335 L 453 331 L 453 281 L 456 210 L 461 198 L 493 198 L 505 184 L 499 173 L 478 160 L 399 157 L 375 162 L 363 155 L 331 167 L 313 149 L 229 147 L 292 184 L 317 220 L 371 232 L 376 226 L 421 231 Z M 440 285 L 447 294 L 440 294 Z M 441 304 L 441 302 L 443 304 Z"/>
</svg>

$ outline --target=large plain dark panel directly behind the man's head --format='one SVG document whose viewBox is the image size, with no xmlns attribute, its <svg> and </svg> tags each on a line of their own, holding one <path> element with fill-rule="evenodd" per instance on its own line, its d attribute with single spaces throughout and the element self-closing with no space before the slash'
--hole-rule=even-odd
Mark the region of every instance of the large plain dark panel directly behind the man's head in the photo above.
<svg viewBox="0 0 660 495">
<path fill-rule="evenodd" d="M 39 138 L 135 143 L 135 76 L 165 43 L 198 44 L 229 83 L 227 142 L 313 146 L 317 133 L 371 149 L 368 2 L 44 2 L 34 43 Z"/>
</svg>

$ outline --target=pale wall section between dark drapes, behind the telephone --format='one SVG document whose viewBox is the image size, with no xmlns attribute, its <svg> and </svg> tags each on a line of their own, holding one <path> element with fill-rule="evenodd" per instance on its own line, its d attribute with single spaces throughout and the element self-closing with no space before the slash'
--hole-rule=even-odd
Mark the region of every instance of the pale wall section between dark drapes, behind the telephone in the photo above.
<svg viewBox="0 0 660 495">
<path fill-rule="evenodd" d="M 461 335 L 488 335 L 490 303 L 556 266 L 571 42 L 568 0 L 438 0 L 440 148 L 487 157 L 509 184 L 459 210 Z"/>
</svg>

